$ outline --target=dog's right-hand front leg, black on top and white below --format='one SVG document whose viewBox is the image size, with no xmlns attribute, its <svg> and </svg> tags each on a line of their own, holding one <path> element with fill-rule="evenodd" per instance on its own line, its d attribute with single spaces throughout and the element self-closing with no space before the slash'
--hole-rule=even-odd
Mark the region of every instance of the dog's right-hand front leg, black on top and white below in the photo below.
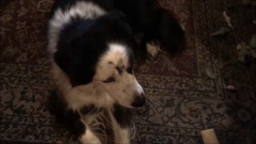
<svg viewBox="0 0 256 144">
<path fill-rule="evenodd" d="M 130 110 L 125 107 L 116 105 L 110 112 L 110 118 L 113 122 L 114 142 L 116 144 L 130 143 Z"/>
</svg>

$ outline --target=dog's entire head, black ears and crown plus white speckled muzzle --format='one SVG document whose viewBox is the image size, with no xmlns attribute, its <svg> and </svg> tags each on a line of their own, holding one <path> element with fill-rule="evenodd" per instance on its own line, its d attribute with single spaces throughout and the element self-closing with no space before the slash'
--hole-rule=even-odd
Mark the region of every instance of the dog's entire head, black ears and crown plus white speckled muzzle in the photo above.
<svg viewBox="0 0 256 144">
<path fill-rule="evenodd" d="M 62 29 L 57 47 L 54 62 L 73 87 L 90 87 L 86 94 L 107 94 L 130 108 L 145 103 L 144 91 L 133 72 L 137 43 L 120 12 L 74 19 Z"/>
</svg>

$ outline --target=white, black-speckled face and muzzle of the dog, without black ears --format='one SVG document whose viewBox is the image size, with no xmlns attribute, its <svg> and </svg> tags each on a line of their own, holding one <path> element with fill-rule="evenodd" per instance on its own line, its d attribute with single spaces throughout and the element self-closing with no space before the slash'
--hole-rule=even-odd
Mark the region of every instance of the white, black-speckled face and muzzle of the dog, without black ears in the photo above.
<svg viewBox="0 0 256 144">
<path fill-rule="evenodd" d="M 93 82 L 106 90 L 119 104 L 126 107 L 142 106 L 146 99 L 142 86 L 134 76 L 133 59 L 126 46 L 110 44 L 96 66 Z"/>
</svg>

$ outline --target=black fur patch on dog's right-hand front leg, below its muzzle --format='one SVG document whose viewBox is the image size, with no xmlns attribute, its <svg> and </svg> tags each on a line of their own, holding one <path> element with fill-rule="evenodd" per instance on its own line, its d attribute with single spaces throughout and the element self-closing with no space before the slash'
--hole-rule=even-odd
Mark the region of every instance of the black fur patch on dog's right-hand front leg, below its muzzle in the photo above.
<svg viewBox="0 0 256 144">
<path fill-rule="evenodd" d="M 126 128 L 132 124 L 132 115 L 130 109 L 120 106 L 118 104 L 114 105 L 113 110 L 114 118 L 118 122 L 121 128 Z"/>
</svg>

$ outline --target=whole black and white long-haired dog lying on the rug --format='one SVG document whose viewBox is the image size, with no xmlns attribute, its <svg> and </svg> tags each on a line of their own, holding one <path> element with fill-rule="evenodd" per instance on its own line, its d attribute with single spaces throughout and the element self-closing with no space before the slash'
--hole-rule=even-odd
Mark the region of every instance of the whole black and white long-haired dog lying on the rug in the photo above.
<svg viewBox="0 0 256 144">
<path fill-rule="evenodd" d="M 48 33 L 58 89 L 51 111 L 82 143 L 107 142 L 111 130 L 115 143 L 130 143 L 129 109 L 146 102 L 134 62 L 146 42 L 177 54 L 185 41 L 156 0 L 57 0 Z"/>
</svg>

